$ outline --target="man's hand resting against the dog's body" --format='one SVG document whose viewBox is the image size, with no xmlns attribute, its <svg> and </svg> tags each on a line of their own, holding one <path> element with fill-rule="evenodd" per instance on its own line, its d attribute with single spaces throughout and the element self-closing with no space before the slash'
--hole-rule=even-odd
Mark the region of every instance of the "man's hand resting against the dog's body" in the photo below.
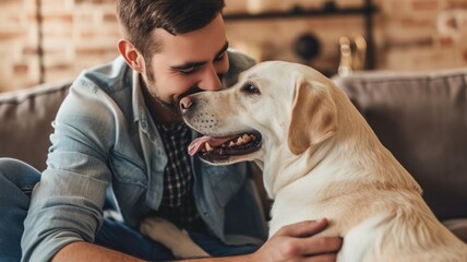
<svg viewBox="0 0 467 262">
<path fill-rule="evenodd" d="M 335 261 L 342 238 L 311 237 L 326 226 L 327 219 L 285 226 L 251 254 L 252 261 Z"/>
</svg>

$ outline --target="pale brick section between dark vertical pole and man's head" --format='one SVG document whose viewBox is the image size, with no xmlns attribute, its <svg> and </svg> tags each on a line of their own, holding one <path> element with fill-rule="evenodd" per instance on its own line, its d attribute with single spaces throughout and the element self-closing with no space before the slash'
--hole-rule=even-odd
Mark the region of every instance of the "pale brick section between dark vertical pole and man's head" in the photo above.
<svg viewBox="0 0 467 262">
<path fill-rule="evenodd" d="M 44 0 L 45 81 L 110 61 L 120 36 L 112 0 Z"/>
</svg>

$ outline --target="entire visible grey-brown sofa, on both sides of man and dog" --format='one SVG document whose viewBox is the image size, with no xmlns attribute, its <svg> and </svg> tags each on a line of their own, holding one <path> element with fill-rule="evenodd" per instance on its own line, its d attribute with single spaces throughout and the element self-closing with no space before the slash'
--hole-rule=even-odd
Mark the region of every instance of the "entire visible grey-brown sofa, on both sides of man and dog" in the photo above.
<svg viewBox="0 0 467 262">
<path fill-rule="evenodd" d="M 333 78 L 467 242 L 467 69 Z M 0 94 L 0 157 L 46 167 L 51 121 L 71 82 Z"/>
</svg>

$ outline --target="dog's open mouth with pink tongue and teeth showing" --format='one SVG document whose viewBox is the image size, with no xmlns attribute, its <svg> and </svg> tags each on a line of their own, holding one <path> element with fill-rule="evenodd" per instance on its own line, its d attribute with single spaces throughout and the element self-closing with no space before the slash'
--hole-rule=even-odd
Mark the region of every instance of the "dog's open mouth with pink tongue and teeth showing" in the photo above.
<svg viewBox="0 0 467 262">
<path fill-rule="evenodd" d="M 252 154 L 261 148 L 261 133 L 249 131 L 231 136 L 201 136 L 193 140 L 188 152 L 213 164 L 228 163 L 232 157 Z"/>
</svg>

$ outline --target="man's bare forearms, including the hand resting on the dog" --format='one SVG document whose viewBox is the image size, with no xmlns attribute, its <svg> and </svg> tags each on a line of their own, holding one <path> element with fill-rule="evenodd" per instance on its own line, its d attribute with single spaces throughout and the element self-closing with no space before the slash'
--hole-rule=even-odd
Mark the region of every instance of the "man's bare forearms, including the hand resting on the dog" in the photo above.
<svg viewBox="0 0 467 262">
<path fill-rule="evenodd" d="M 327 221 L 300 222 L 278 230 L 252 254 L 191 259 L 193 262 L 254 262 L 254 261 L 335 261 L 340 249 L 339 237 L 312 237 L 327 226 Z M 136 258 L 86 242 L 73 242 L 61 249 L 52 262 L 74 261 L 143 261 Z"/>
</svg>

